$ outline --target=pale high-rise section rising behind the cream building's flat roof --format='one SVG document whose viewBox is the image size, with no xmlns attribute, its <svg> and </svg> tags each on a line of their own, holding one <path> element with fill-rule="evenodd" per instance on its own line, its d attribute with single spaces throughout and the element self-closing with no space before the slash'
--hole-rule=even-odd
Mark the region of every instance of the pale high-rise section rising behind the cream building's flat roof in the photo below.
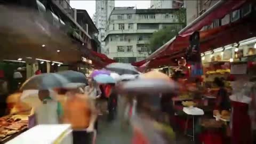
<svg viewBox="0 0 256 144">
<path fill-rule="evenodd" d="M 183 0 L 151 0 L 150 9 L 178 9 L 184 4 Z"/>
</svg>

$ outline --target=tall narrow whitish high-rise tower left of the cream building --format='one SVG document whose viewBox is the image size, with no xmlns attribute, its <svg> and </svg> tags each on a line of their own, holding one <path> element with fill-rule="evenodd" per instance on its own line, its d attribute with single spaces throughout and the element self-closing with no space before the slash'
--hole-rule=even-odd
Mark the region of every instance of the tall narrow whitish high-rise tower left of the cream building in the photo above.
<svg viewBox="0 0 256 144">
<path fill-rule="evenodd" d="M 99 30 L 98 39 L 101 42 L 101 53 L 106 53 L 105 43 L 103 42 L 106 36 L 106 23 L 111 11 L 115 7 L 115 1 L 96 1 L 95 14 L 93 21 Z"/>
</svg>

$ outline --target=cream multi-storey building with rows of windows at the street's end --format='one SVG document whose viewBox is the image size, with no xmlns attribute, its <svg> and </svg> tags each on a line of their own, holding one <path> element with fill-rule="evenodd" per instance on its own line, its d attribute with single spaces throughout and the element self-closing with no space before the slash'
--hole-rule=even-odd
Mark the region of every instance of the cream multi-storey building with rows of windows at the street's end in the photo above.
<svg viewBox="0 0 256 144">
<path fill-rule="evenodd" d="M 166 26 L 181 25 L 174 12 L 179 9 L 134 9 L 115 7 L 107 21 L 107 55 L 118 62 L 145 59 L 151 35 Z"/>
</svg>

